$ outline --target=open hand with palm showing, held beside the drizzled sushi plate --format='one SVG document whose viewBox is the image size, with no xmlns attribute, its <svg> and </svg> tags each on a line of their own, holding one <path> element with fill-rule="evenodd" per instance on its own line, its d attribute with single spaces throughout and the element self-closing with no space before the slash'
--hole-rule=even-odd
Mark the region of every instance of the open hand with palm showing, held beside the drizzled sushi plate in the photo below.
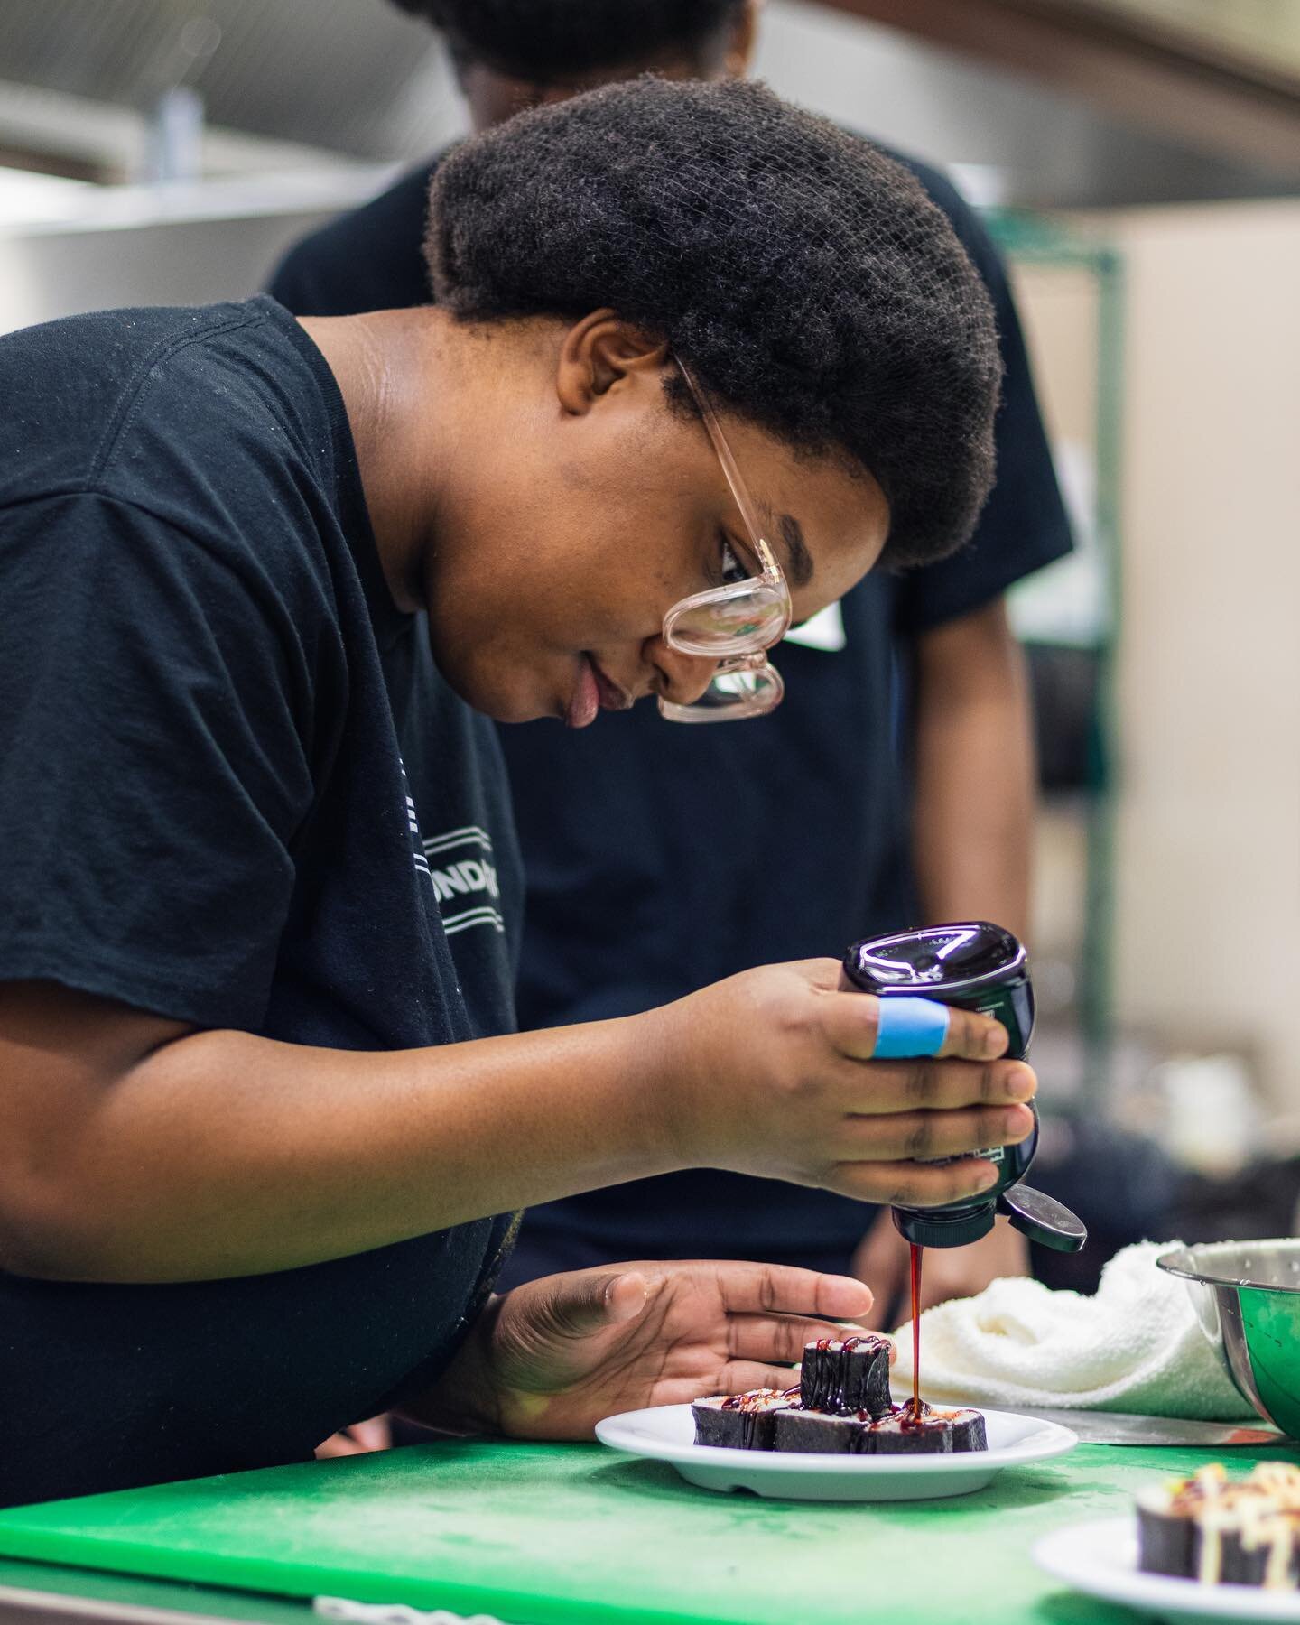
<svg viewBox="0 0 1300 1625">
<path fill-rule="evenodd" d="M 434 1427 L 590 1438 L 601 1417 L 705 1394 L 788 1388 L 814 1337 L 871 1292 L 777 1264 L 621 1264 L 544 1276 L 492 1298 L 452 1367 L 408 1407 Z"/>
</svg>

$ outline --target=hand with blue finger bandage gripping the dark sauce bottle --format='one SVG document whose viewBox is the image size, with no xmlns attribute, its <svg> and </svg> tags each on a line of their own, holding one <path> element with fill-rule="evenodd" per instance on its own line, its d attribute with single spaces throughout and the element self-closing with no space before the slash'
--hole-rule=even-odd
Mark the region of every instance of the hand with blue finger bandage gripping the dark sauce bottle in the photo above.
<svg viewBox="0 0 1300 1625">
<path fill-rule="evenodd" d="M 834 959 L 746 970 L 650 1012 L 682 1167 L 907 1207 L 988 1190 L 998 1172 L 970 1154 L 1029 1138 L 1034 1072 L 999 1060 L 998 1022 L 960 1009 L 939 1058 L 873 1061 L 878 1017 Z M 934 1157 L 959 1160 L 923 1165 Z"/>
</svg>

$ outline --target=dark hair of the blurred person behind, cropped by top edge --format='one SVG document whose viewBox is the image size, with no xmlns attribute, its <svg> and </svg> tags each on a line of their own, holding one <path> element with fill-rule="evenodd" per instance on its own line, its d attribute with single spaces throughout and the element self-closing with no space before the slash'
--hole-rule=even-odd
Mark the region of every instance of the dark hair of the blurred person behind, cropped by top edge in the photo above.
<svg viewBox="0 0 1300 1625">
<path fill-rule="evenodd" d="M 595 68 L 644 67 L 700 47 L 744 0 L 395 0 L 442 29 L 462 60 L 546 83 Z"/>
</svg>

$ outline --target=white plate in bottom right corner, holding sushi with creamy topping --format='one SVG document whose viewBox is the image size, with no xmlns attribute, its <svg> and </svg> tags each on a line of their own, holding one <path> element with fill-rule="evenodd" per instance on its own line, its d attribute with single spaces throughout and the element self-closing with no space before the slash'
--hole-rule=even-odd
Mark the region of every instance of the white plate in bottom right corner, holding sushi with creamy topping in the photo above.
<svg viewBox="0 0 1300 1625">
<path fill-rule="evenodd" d="M 1066 1524 L 1034 1547 L 1034 1562 L 1076 1591 L 1123 1602 L 1141 1614 L 1175 1620 L 1300 1620 L 1295 1591 L 1258 1586 L 1202 1586 L 1196 1580 L 1138 1570 L 1136 1518 Z"/>
</svg>

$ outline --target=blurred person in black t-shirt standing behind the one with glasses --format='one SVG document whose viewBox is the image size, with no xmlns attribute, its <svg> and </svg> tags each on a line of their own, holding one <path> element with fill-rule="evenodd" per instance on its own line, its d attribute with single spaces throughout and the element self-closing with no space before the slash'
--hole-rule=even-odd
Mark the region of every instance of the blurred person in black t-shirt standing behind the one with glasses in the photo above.
<svg viewBox="0 0 1300 1625">
<path fill-rule="evenodd" d="M 757 0 L 396 0 L 447 41 L 474 130 L 650 72 L 734 78 Z M 838 954 L 920 921 L 1029 925 L 1030 705 L 1004 593 L 1069 551 L 1016 306 L 975 213 L 892 153 L 947 214 L 993 299 L 1004 367 L 996 486 L 968 546 L 874 574 L 782 645 L 770 717 L 663 728 L 642 713 L 556 738 L 500 730 L 526 874 L 525 1025 L 624 1016 L 754 960 Z M 299 315 L 431 297 L 419 252 L 440 158 L 297 244 L 270 291 Z M 718 1170 L 535 1207 L 512 1280 L 626 1256 L 762 1256 L 837 1272 L 899 1313 L 907 1246 L 887 1212 Z M 1027 1271 L 1004 1220 L 934 1251 L 926 1302 Z M 892 1323 L 892 1321 L 890 1321 Z"/>
</svg>

